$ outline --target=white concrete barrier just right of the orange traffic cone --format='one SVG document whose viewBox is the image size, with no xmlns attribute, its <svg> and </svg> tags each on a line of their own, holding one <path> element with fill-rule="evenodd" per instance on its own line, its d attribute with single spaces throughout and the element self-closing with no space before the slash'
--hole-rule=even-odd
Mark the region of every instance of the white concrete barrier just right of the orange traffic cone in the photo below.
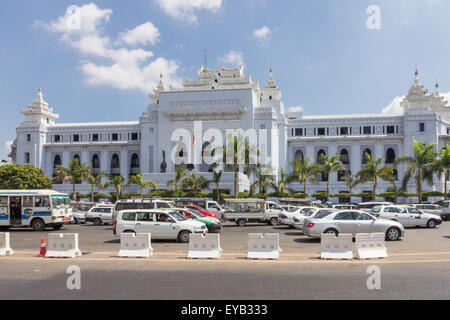
<svg viewBox="0 0 450 320">
<path fill-rule="evenodd" d="M 75 258 L 81 256 L 78 233 L 49 233 L 46 258 Z"/>
</svg>

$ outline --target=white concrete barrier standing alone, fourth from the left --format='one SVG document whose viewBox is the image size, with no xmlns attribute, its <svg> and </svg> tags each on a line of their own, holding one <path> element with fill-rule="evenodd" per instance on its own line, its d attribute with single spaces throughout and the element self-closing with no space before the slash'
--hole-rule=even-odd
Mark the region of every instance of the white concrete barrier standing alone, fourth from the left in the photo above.
<svg viewBox="0 0 450 320">
<path fill-rule="evenodd" d="M 222 251 L 219 234 L 189 235 L 189 259 L 219 259 Z"/>
</svg>

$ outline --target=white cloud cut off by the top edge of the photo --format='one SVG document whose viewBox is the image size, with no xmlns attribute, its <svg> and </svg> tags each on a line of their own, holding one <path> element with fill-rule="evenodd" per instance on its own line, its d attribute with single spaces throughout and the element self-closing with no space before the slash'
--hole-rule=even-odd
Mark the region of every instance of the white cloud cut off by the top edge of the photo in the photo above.
<svg viewBox="0 0 450 320">
<path fill-rule="evenodd" d="M 197 10 L 209 10 L 216 13 L 222 6 L 222 0 L 158 0 L 161 9 L 175 19 L 196 23 Z"/>
</svg>

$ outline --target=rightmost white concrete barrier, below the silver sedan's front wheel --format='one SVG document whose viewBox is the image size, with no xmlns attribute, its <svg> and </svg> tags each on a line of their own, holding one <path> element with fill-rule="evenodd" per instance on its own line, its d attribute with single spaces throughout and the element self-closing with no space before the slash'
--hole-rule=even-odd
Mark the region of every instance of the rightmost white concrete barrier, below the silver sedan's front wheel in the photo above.
<svg viewBox="0 0 450 320">
<path fill-rule="evenodd" d="M 356 257 L 358 259 L 379 259 L 387 258 L 387 256 L 384 233 L 356 234 Z"/>
</svg>

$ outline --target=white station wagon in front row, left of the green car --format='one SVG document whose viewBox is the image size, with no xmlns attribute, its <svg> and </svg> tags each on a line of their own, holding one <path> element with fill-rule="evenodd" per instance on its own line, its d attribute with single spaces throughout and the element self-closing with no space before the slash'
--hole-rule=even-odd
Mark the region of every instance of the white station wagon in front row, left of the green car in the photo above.
<svg viewBox="0 0 450 320">
<path fill-rule="evenodd" d="M 117 214 L 113 233 L 150 233 L 152 239 L 189 242 L 189 234 L 206 234 L 208 228 L 202 222 L 186 219 L 177 211 L 165 210 L 123 210 Z"/>
</svg>

